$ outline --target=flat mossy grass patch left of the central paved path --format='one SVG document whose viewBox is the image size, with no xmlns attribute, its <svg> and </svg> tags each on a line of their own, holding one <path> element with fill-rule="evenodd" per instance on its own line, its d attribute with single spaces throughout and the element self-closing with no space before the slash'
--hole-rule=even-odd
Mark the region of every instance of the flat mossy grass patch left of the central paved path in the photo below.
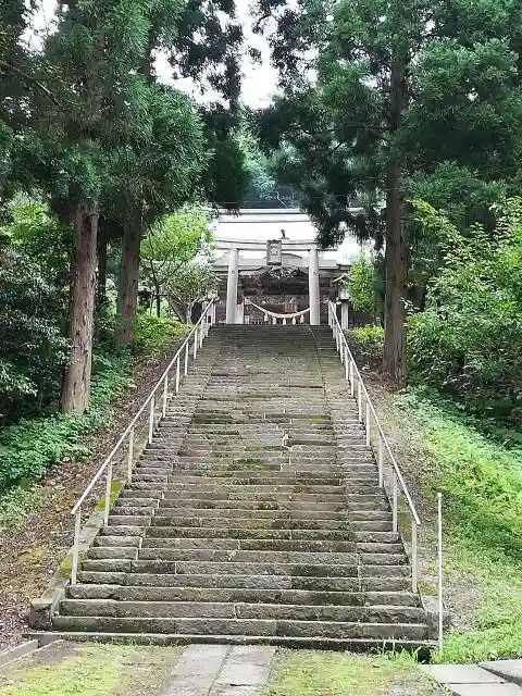
<svg viewBox="0 0 522 696">
<path fill-rule="evenodd" d="M 179 648 L 55 645 L 0 669 L 0 696 L 152 696 L 178 656 Z"/>
</svg>

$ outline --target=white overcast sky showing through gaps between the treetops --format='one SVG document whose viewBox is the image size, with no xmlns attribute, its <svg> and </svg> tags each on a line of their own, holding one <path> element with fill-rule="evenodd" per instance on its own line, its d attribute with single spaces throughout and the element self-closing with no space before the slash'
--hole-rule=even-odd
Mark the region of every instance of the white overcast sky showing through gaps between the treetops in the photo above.
<svg viewBox="0 0 522 696">
<path fill-rule="evenodd" d="M 270 52 L 266 41 L 262 37 L 252 34 L 249 15 L 251 4 L 252 0 L 236 0 L 237 15 L 243 24 L 247 42 L 262 53 L 262 63 L 260 65 L 252 64 L 247 57 L 243 60 L 243 100 L 247 105 L 257 108 L 269 103 L 270 97 L 275 90 L 276 74 L 270 65 Z M 57 0 L 42 0 L 41 10 L 37 12 L 34 20 L 34 26 L 38 32 L 45 30 L 46 27 L 52 25 L 55 8 Z M 171 69 L 167 61 L 161 57 L 157 61 L 157 72 L 161 80 L 170 82 Z M 198 98 L 196 87 L 190 80 L 178 80 L 177 86 Z"/>
</svg>

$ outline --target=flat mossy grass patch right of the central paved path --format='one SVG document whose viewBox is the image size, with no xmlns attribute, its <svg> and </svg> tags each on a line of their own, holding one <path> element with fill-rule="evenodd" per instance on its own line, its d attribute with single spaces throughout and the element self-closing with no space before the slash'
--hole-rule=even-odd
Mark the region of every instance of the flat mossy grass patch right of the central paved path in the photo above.
<svg viewBox="0 0 522 696">
<path fill-rule="evenodd" d="M 428 696 L 442 694 L 406 654 L 278 652 L 262 696 Z"/>
</svg>

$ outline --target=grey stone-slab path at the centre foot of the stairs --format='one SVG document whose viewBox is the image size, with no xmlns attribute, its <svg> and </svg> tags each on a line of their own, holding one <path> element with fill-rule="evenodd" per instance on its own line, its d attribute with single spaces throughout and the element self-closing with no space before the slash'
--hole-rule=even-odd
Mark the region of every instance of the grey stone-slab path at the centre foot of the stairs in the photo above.
<svg viewBox="0 0 522 696">
<path fill-rule="evenodd" d="M 274 654 L 264 646 L 191 645 L 161 696 L 258 696 Z"/>
</svg>

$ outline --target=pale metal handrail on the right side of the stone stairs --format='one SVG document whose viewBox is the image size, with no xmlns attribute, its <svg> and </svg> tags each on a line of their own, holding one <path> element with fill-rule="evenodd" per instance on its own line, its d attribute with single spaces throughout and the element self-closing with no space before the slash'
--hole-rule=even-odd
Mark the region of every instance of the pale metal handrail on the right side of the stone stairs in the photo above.
<svg viewBox="0 0 522 696">
<path fill-rule="evenodd" d="M 384 485 L 384 452 L 388 453 L 389 461 L 393 469 L 391 481 L 391 514 L 393 514 L 393 529 L 394 532 L 398 531 L 398 509 L 399 501 L 398 495 L 402 492 L 405 499 L 408 504 L 408 511 L 411 518 L 411 556 L 412 556 L 412 588 L 413 592 L 418 591 L 418 532 L 421 526 L 421 520 L 417 512 L 413 499 L 408 490 L 408 486 L 405 482 L 399 464 L 397 463 L 394 452 L 389 446 L 388 439 L 384 433 L 381 421 L 376 414 L 375 408 L 372 403 L 372 399 L 368 393 L 368 389 L 362 380 L 359 368 L 348 346 L 345 333 L 339 324 L 337 318 L 336 306 L 334 302 L 328 301 L 328 325 L 332 328 L 337 352 L 339 353 L 340 362 L 345 365 L 345 377 L 350 384 L 351 396 L 356 398 L 356 402 L 359 411 L 359 421 L 365 426 L 366 431 L 366 445 L 372 447 L 372 418 L 374 425 L 378 434 L 378 448 L 374 452 L 376 455 L 378 467 L 378 485 L 381 488 L 385 488 Z"/>
</svg>

